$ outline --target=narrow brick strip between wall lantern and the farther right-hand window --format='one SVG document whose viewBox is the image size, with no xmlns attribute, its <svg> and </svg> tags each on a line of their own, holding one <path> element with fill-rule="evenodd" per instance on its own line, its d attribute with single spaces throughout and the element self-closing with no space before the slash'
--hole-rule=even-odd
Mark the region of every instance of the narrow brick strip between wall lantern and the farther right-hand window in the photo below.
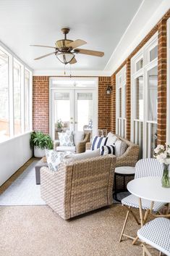
<svg viewBox="0 0 170 256">
<path fill-rule="evenodd" d="M 116 75 L 111 75 L 111 131 L 116 133 Z"/>
</svg>

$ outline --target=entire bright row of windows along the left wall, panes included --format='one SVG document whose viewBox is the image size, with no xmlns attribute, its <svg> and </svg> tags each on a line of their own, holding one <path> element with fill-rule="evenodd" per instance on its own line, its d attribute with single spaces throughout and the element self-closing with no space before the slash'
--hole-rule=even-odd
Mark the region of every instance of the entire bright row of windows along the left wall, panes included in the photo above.
<svg viewBox="0 0 170 256">
<path fill-rule="evenodd" d="M 31 71 L 0 46 L 0 143 L 31 128 Z"/>
</svg>

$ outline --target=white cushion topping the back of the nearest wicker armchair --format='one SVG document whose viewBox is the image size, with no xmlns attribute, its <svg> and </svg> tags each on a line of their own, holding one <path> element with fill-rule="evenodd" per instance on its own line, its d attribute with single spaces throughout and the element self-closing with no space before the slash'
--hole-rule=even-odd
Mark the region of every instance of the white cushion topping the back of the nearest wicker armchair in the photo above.
<svg viewBox="0 0 170 256">
<path fill-rule="evenodd" d="M 72 155 L 67 155 L 66 157 L 64 157 L 64 162 L 75 162 L 75 161 L 79 161 L 79 160 L 85 160 L 88 158 L 92 158 L 92 157 L 99 157 L 100 156 L 100 149 L 96 149 L 93 151 L 88 151 L 88 152 L 83 152 L 83 153 L 79 153 L 79 154 L 72 154 Z"/>
</svg>

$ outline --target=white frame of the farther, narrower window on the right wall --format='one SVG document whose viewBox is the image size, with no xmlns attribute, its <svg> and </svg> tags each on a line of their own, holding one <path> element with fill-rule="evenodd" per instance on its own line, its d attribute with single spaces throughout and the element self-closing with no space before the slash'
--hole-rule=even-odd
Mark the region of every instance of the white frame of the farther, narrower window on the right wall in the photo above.
<svg viewBox="0 0 170 256">
<path fill-rule="evenodd" d="M 122 117 L 120 117 L 119 109 L 119 89 L 122 89 Z M 125 104 L 125 107 L 124 107 Z M 122 70 L 116 74 L 116 134 L 126 138 L 126 126 L 127 126 L 127 118 L 126 118 L 126 65 L 122 67 Z M 120 129 L 119 129 L 120 128 Z"/>
</svg>

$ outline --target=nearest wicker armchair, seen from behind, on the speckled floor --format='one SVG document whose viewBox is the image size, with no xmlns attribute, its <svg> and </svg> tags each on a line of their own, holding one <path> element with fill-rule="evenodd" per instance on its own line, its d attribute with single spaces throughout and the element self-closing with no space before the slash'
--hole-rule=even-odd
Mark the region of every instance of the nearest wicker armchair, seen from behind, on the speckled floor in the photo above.
<svg viewBox="0 0 170 256">
<path fill-rule="evenodd" d="M 41 197 L 64 220 L 111 205 L 116 157 L 93 157 L 41 168 Z"/>
</svg>

